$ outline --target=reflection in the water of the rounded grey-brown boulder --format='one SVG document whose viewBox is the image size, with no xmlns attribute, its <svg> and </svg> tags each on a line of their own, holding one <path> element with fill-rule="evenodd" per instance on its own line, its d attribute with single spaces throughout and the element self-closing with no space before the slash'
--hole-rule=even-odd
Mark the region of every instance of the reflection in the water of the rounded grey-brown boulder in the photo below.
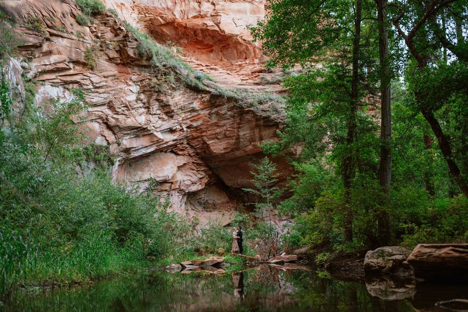
<svg viewBox="0 0 468 312">
<path fill-rule="evenodd" d="M 416 293 L 414 285 L 393 276 L 366 278 L 366 288 L 370 295 L 384 300 L 403 300 Z"/>
</svg>

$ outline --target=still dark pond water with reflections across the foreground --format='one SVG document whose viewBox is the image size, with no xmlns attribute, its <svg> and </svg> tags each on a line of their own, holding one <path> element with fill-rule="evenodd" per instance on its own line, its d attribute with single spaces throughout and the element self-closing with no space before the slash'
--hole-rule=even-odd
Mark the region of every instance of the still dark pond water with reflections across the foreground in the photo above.
<svg viewBox="0 0 468 312">
<path fill-rule="evenodd" d="M 341 281 L 326 273 L 259 266 L 237 273 L 167 273 L 95 285 L 19 293 L 1 311 L 468 311 L 468 285 L 398 285 L 390 279 Z M 442 302 L 442 305 L 440 303 Z M 449 310 L 448 308 L 452 309 Z M 456 309 L 456 310 L 453 310 Z"/>
</svg>

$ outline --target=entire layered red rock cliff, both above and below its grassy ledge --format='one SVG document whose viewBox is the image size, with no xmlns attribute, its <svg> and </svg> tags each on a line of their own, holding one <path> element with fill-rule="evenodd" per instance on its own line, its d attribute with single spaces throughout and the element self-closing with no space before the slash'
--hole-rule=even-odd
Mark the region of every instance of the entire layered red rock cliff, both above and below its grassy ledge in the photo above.
<svg viewBox="0 0 468 312">
<path fill-rule="evenodd" d="M 105 2 L 157 41 L 182 47 L 183 53 L 172 53 L 220 84 L 278 90 L 258 82 L 262 56 L 246 29 L 263 17 L 264 0 Z M 259 143 L 276 139 L 282 128 L 281 109 L 222 97 L 209 81 L 204 89 L 190 87 L 167 68 L 152 67 L 139 56 L 137 38 L 108 12 L 82 26 L 74 0 L 5 0 L 1 6 L 22 34 L 14 60 L 21 66 L 10 67 L 15 77 L 37 81 L 35 101 L 44 108 L 50 98 L 70 97 L 70 88 L 88 93 L 82 126 L 115 156 L 116 181 L 141 191 L 157 182 L 157 193 L 198 227 L 231 222 L 245 199 L 239 190 L 251 186 L 249 163 L 263 157 Z M 40 29 L 28 26 L 31 19 Z M 275 161 L 286 178 L 286 160 Z"/>
</svg>

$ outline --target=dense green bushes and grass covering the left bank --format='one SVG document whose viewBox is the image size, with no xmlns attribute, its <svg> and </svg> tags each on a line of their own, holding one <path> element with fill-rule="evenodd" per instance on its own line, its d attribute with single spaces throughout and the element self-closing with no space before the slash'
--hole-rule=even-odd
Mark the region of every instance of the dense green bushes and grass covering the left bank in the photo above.
<svg viewBox="0 0 468 312">
<path fill-rule="evenodd" d="M 0 136 L 0 297 L 18 285 L 85 283 L 139 270 L 151 258 L 189 249 L 191 228 L 168 212 L 167 200 L 115 185 L 107 147 L 81 145 L 74 120 L 84 93 L 71 93 L 12 129 L 24 144 Z M 77 174 L 83 162 L 94 169 Z"/>
</svg>

